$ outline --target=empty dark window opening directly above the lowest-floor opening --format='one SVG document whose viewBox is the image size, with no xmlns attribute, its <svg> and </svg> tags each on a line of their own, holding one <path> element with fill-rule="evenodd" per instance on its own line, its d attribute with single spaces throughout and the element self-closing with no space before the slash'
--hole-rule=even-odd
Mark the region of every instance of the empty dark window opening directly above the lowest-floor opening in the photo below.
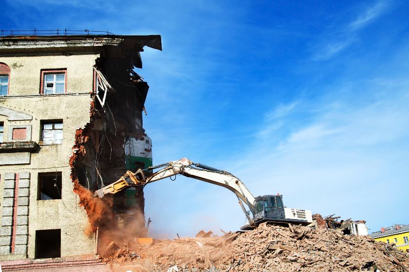
<svg viewBox="0 0 409 272">
<path fill-rule="evenodd" d="M 37 200 L 61 199 L 61 172 L 38 173 Z"/>
</svg>

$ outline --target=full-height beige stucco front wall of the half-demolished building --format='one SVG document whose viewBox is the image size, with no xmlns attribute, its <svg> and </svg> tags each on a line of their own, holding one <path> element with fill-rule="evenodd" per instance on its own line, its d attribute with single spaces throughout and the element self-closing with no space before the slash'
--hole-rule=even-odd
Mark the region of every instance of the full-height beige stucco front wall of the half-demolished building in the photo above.
<svg viewBox="0 0 409 272">
<path fill-rule="evenodd" d="M 2 242 L 0 259 L 34 258 L 36 230 L 43 229 L 61 229 L 61 256 L 95 253 L 95 236 L 85 234 L 84 229 L 89 224 L 88 217 L 85 210 L 78 205 L 78 196 L 73 192 L 69 158 L 74 145 L 75 130 L 85 126 L 90 120 L 90 92 L 93 89 L 93 65 L 96 57 L 96 55 L 0 57 L 0 62 L 11 68 L 9 89 L 11 96 L 0 97 L 0 106 L 32 116 L 31 120 L 10 121 L 7 116 L 0 115 L 0 122 L 4 122 L 3 141 L 9 140 L 8 129 L 11 126 L 27 125 L 31 126 L 31 140 L 38 142 L 41 120 L 63 120 L 62 144 L 40 145 L 38 152 L 31 153 L 30 164 L 0 165 L 0 205 L 4 218 L 1 228 L 9 226 L 9 219 L 15 217 L 18 223 L 17 236 L 21 235 L 16 238 L 15 254 L 8 254 L 4 245 L 8 238 L 7 235 L 3 235 L 7 232 L 0 232 Z M 66 94 L 38 94 L 42 68 L 67 68 Z M 83 93 L 76 94 L 77 92 Z M 14 153 L 8 154 L 12 156 Z M 37 200 L 38 173 L 55 171 L 62 172 L 62 199 Z M 17 205 L 17 209 L 13 211 L 12 207 L 2 204 L 7 202 L 7 205 L 10 205 L 11 196 L 8 194 L 13 188 L 8 187 L 12 184 L 11 175 L 14 176 L 15 173 L 25 178 L 19 180 L 20 187 L 14 205 Z M 27 225 L 24 225 L 24 218 L 21 217 L 25 213 L 28 215 L 25 220 L 28 228 L 24 228 Z M 26 254 L 23 250 L 25 235 L 28 238 Z"/>
</svg>

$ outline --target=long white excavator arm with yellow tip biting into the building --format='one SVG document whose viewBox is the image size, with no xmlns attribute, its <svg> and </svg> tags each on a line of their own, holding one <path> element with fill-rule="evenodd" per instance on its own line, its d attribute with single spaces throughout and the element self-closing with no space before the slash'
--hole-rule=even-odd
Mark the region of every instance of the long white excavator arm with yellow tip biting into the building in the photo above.
<svg viewBox="0 0 409 272">
<path fill-rule="evenodd" d="M 102 198 L 105 194 L 115 194 L 129 187 L 143 186 L 148 183 L 181 174 L 186 177 L 225 187 L 235 193 L 236 196 L 240 199 L 239 204 L 241 205 L 247 219 L 249 219 L 249 222 L 251 224 L 253 223 L 253 220 L 248 215 L 242 202 L 244 202 L 248 206 L 251 213 L 254 215 L 255 198 L 248 190 L 248 188 L 244 185 L 244 183 L 231 173 L 202 164 L 194 164 L 187 158 L 182 158 L 177 161 L 171 161 L 166 164 L 149 167 L 147 170 L 153 170 L 162 167 L 163 169 L 154 172 L 149 177 L 145 177 L 143 170 L 138 170 L 136 172 L 127 171 L 126 174 L 119 178 L 116 182 L 102 187 L 99 190 L 96 190 L 94 196 Z"/>
</svg>

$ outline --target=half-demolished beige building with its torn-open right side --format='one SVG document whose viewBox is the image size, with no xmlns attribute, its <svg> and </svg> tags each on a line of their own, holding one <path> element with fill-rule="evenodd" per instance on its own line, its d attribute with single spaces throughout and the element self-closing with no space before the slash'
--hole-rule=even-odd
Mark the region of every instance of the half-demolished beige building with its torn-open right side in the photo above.
<svg viewBox="0 0 409 272">
<path fill-rule="evenodd" d="M 144 46 L 161 37 L 0 37 L 0 260 L 96 253 L 78 189 L 152 165 Z M 117 216 L 143 211 L 134 194 L 115 195 Z"/>
</svg>

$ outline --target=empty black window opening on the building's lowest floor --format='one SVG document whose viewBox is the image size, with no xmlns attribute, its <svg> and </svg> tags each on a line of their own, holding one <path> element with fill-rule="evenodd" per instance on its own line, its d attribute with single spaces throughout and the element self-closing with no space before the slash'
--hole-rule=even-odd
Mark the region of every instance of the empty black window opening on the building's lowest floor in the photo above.
<svg viewBox="0 0 409 272">
<path fill-rule="evenodd" d="M 36 259 L 61 257 L 61 229 L 36 230 Z"/>
</svg>

